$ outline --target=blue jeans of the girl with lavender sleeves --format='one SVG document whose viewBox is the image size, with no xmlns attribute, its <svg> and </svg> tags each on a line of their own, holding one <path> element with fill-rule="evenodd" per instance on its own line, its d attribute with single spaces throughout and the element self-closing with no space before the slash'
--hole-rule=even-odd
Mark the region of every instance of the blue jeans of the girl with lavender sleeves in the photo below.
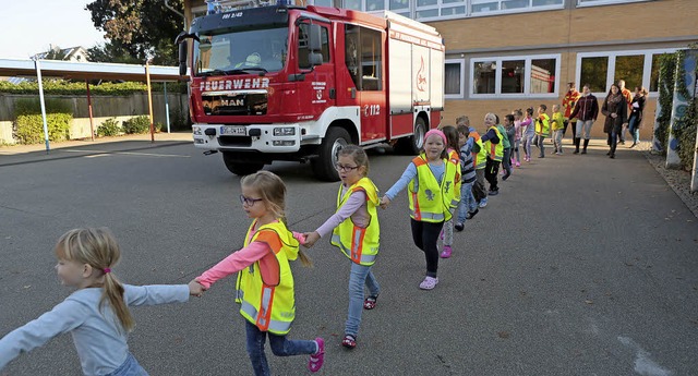
<svg viewBox="0 0 698 376">
<path fill-rule="evenodd" d="M 345 324 L 345 335 L 354 338 L 359 333 L 361 324 L 361 313 L 363 312 L 363 287 L 369 289 L 369 296 L 377 296 L 381 292 L 378 281 L 373 276 L 370 266 L 351 263 L 351 274 L 349 275 L 349 313 Z"/>
</svg>

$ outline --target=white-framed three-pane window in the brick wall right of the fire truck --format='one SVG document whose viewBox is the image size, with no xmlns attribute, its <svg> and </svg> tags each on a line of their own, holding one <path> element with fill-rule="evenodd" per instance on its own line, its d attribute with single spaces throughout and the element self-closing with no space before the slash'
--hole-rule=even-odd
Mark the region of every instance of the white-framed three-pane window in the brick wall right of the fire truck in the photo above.
<svg viewBox="0 0 698 376">
<path fill-rule="evenodd" d="M 559 54 L 471 60 L 470 95 L 554 97 L 559 86 Z"/>
</svg>

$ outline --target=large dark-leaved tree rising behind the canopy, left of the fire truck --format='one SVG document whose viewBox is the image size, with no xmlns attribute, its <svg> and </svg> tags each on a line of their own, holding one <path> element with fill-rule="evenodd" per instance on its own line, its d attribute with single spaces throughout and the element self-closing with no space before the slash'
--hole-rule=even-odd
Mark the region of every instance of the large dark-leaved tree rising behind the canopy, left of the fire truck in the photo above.
<svg viewBox="0 0 698 376">
<path fill-rule="evenodd" d="M 169 4 L 182 9 L 182 2 L 171 0 Z M 177 65 L 174 38 L 184 28 L 184 20 L 167 9 L 165 1 L 95 0 L 85 9 L 95 27 L 106 32 L 113 45 L 94 50 L 95 54 L 116 52 L 118 58 L 124 52 L 139 62 L 152 58 L 154 64 Z"/>
</svg>

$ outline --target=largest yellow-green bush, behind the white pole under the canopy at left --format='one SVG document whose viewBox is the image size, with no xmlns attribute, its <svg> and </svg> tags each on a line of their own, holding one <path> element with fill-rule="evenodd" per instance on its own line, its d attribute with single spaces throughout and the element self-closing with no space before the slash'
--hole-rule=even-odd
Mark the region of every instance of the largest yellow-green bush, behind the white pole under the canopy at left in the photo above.
<svg viewBox="0 0 698 376">
<path fill-rule="evenodd" d="M 73 121 L 73 108 L 59 99 L 47 99 L 46 124 L 49 141 L 70 138 L 70 124 Z M 19 99 L 15 104 L 14 136 L 21 144 L 44 142 L 44 120 L 41 105 L 37 98 Z"/>
</svg>

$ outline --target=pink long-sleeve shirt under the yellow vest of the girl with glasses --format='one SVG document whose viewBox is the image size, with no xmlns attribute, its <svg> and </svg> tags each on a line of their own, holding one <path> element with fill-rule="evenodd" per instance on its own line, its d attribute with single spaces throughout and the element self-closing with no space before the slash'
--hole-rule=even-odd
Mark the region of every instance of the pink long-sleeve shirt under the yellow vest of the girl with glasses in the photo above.
<svg viewBox="0 0 698 376">
<path fill-rule="evenodd" d="M 250 240 L 252 240 L 255 233 L 256 229 L 252 229 L 252 231 L 250 231 Z M 299 232 L 293 232 L 293 238 L 296 238 L 296 240 L 301 243 L 305 241 L 303 234 Z M 272 252 L 272 247 L 269 247 L 267 243 L 251 242 L 250 244 L 248 244 L 248 246 L 241 248 L 240 251 L 233 252 L 232 254 L 230 254 L 230 256 L 224 258 L 222 260 L 220 260 L 220 263 L 204 271 L 195 279 L 204 288 L 208 289 L 217 280 L 226 278 L 246 268 L 248 266 L 262 259 L 262 257 L 268 255 L 269 252 Z"/>
</svg>

